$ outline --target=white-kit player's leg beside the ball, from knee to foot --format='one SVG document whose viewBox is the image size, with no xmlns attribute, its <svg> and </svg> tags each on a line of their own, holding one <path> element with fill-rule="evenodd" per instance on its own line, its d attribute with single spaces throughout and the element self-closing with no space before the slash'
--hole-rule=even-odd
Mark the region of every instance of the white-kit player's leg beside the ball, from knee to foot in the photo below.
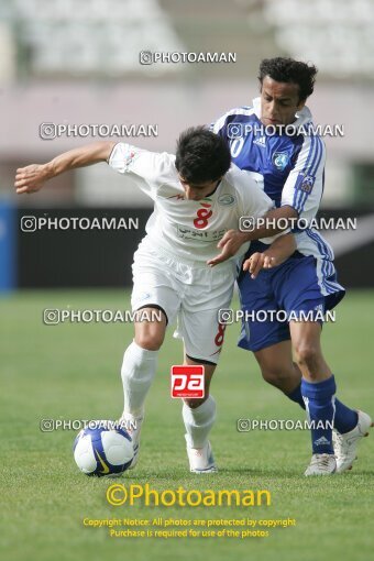
<svg viewBox="0 0 374 561">
<path fill-rule="evenodd" d="M 124 404 L 120 420 L 130 432 L 134 447 L 130 469 L 138 462 L 144 402 L 156 372 L 157 354 L 167 323 L 165 314 L 158 308 L 142 308 L 138 318 L 140 321 L 134 322 L 135 337 L 124 352 L 121 369 Z"/>
</svg>

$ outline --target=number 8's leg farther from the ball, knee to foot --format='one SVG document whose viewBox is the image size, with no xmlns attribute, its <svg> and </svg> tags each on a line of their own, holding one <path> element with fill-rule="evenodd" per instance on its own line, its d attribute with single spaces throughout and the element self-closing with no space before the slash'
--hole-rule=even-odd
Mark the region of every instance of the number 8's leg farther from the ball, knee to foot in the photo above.
<svg viewBox="0 0 374 561">
<path fill-rule="evenodd" d="M 185 364 L 204 364 L 205 397 L 201 399 L 184 399 L 183 419 L 186 427 L 186 443 L 189 468 L 193 473 L 212 473 L 217 471 L 209 432 L 216 419 L 216 402 L 209 394 L 210 382 L 216 364 L 185 356 Z"/>
</svg>

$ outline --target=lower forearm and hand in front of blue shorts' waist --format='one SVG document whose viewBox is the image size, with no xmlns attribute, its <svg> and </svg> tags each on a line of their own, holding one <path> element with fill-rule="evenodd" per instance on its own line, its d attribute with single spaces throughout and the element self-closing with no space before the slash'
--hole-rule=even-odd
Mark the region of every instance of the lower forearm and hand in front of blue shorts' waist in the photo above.
<svg viewBox="0 0 374 561">
<path fill-rule="evenodd" d="M 248 271 L 252 278 L 256 278 L 262 268 L 280 265 L 296 251 L 295 237 L 292 233 L 280 235 L 263 253 L 256 252 L 243 263 L 243 271 Z"/>
</svg>

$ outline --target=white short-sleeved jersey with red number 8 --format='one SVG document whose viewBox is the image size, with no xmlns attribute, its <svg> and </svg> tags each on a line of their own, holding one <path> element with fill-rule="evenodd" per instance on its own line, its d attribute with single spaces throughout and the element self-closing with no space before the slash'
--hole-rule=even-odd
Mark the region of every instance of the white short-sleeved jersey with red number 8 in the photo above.
<svg viewBox="0 0 374 561">
<path fill-rule="evenodd" d="M 119 143 L 109 165 L 131 176 L 154 201 L 146 223 L 148 241 L 182 260 L 200 262 L 220 253 L 217 243 L 231 229 L 239 229 L 242 216 L 262 217 L 274 204 L 257 185 L 254 174 L 232 165 L 216 191 L 201 200 L 187 200 L 175 167 L 175 156 Z M 277 238 L 266 238 L 272 243 Z M 249 243 L 238 254 L 243 254 Z"/>
</svg>

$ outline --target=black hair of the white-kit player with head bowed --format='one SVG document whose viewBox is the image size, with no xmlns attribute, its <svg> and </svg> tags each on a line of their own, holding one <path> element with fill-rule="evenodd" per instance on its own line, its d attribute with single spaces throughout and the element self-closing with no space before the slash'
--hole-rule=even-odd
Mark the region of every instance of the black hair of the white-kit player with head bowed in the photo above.
<svg viewBox="0 0 374 561">
<path fill-rule="evenodd" d="M 175 167 L 188 184 L 220 179 L 230 168 L 231 154 L 226 140 L 205 127 L 191 127 L 177 141 Z"/>
</svg>

